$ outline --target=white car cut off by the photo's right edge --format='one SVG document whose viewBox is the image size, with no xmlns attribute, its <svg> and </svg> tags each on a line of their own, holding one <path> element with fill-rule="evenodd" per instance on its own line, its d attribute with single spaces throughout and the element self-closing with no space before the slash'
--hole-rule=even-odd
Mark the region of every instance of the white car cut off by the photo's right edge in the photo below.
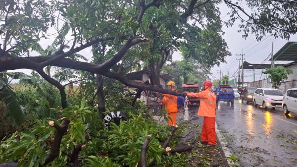
<svg viewBox="0 0 297 167">
<path fill-rule="evenodd" d="M 297 88 L 288 89 L 283 100 L 283 111 L 297 113 Z"/>
</svg>

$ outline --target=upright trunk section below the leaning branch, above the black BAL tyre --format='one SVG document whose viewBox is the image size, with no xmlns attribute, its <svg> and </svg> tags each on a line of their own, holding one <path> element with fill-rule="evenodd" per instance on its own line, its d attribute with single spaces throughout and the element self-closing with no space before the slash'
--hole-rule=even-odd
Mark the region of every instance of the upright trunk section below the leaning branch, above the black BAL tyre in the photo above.
<svg viewBox="0 0 297 167">
<path fill-rule="evenodd" d="M 104 117 L 104 112 L 105 112 L 105 102 L 104 102 L 104 92 L 103 92 L 103 77 L 100 74 L 96 75 L 97 79 L 97 89 L 98 89 L 98 112 L 101 118 Z"/>
</svg>

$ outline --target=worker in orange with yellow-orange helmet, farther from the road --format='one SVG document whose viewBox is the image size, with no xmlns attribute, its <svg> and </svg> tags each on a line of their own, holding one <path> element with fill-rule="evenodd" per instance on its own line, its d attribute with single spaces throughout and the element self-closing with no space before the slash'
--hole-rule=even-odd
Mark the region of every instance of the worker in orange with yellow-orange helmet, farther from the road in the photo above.
<svg viewBox="0 0 297 167">
<path fill-rule="evenodd" d="M 173 81 L 169 81 L 167 83 L 167 88 L 169 90 L 177 92 L 175 90 L 175 83 Z M 164 98 L 162 99 L 162 103 L 165 105 L 165 109 L 167 112 L 168 117 L 168 125 L 169 126 L 175 126 L 176 124 L 176 114 L 178 112 L 177 108 L 177 96 L 169 95 L 169 94 L 162 94 Z"/>
</svg>

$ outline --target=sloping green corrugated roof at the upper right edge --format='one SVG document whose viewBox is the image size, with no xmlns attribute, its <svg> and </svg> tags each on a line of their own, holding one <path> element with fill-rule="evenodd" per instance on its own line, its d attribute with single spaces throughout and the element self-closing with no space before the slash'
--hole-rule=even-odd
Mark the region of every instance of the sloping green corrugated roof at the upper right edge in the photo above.
<svg viewBox="0 0 297 167">
<path fill-rule="evenodd" d="M 274 61 L 296 61 L 297 42 L 287 42 L 274 56 Z M 271 60 L 271 58 L 269 59 Z"/>
</svg>

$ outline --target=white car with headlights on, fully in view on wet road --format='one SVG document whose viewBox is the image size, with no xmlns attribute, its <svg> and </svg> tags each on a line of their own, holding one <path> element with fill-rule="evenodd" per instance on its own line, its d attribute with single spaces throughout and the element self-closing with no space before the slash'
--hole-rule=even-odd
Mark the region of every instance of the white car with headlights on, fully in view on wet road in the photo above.
<svg viewBox="0 0 297 167">
<path fill-rule="evenodd" d="M 281 108 L 284 94 L 278 89 L 257 88 L 253 96 L 253 104 L 262 105 L 264 109 L 268 107 Z"/>
</svg>

